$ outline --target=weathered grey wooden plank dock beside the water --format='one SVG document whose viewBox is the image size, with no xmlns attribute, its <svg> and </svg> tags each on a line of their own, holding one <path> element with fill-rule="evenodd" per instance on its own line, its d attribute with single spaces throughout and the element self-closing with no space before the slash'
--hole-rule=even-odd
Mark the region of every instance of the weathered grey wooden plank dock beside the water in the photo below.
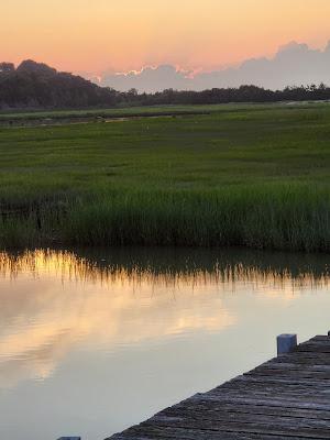
<svg viewBox="0 0 330 440">
<path fill-rule="evenodd" d="M 330 439 L 330 337 L 315 337 L 111 440 Z"/>
</svg>

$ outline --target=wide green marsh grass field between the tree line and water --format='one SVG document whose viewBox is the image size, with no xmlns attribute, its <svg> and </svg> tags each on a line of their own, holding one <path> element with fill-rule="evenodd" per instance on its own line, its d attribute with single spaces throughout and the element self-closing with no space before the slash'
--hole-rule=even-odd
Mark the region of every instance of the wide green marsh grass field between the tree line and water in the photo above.
<svg viewBox="0 0 330 440">
<path fill-rule="evenodd" d="M 330 250 L 330 108 L 0 130 L 0 244 Z"/>
</svg>

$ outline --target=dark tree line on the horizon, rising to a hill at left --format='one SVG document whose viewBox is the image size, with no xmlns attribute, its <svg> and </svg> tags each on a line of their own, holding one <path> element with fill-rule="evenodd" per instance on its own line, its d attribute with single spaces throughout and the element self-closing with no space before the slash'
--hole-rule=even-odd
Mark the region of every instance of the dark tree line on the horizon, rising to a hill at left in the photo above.
<svg viewBox="0 0 330 440">
<path fill-rule="evenodd" d="M 208 105 L 330 100 L 324 84 L 270 90 L 256 86 L 204 91 L 167 89 L 156 94 L 100 87 L 79 76 L 25 61 L 15 67 L 0 63 L 0 109 L 64 109 L 118 106 Z"/>
</svg>

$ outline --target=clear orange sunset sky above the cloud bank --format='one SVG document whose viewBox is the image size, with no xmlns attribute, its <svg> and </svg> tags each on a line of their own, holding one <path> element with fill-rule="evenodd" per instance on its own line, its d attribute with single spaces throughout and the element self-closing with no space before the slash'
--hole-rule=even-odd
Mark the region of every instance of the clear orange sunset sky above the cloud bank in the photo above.
<svg viewBox="0 0 330 440">
<path fill-rule="evenodd" d="M 173 64 L 210 70 L 271 56 L 290 41 L 322 47 L 329 0 L 10 0 L 0 58 L 69 72 Z"/>
</svg>

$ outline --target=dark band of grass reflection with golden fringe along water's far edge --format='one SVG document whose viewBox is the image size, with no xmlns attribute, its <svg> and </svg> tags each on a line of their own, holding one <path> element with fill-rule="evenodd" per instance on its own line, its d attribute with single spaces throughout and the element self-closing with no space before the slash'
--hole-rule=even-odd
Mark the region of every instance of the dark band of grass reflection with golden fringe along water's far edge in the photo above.
<svg viewBox="0 0 330 440">
<path fill-rule="evenodd" d="M 276 288 L 327 286 L 329 266 L 323 255 L 270 254 L 243 250 L 155 250 L 114 249 L 112 251 L 35 250 L 0 252 L 0 277 L 22 275 L 38 278 L 47 274 L 63 282 L 91 282 L 106 285 L 180 285 L 273 283 Z"/>
</svg>

